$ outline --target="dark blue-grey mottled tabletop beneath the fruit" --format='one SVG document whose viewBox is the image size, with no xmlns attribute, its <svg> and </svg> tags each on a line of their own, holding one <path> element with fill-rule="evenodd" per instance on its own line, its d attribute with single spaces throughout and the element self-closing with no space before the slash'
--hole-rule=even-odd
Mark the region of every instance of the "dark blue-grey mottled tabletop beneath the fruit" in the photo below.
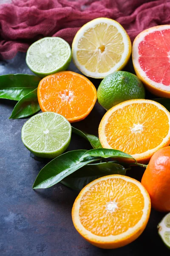
<svg viewBox="0 0 170 256">
<path fill-rule="evenodd" d="M 73 64 L 70 70 L 78 72 Z M 126 70 L 133 72 L 131 61 Z M 0 75 L 29 73 L 25 54 L 0 62 Z M 96 87 L 98 80 L 92 79 Z M 144 256 L 170 255 L 157 234 L 163 213 L 152 210 L 143 234 L 133 243 L 115 250 L 102 250 L 86 242 L 74 229 L 71 208 L 78 192 L 57 184 L 34 191 L 32 185 L 46 160 L 34 159 L 21 140 L 21 128 L 27 119 L 8 119 L 16 102 L 0 100 L 0 256 Z M 82 122 L 74 124 L 97 135 L 105 113 L 98 104 Z M 83 146 L 82 146 L 83 145 Z M 72 136 L 68 150 L 87 148 L 88 143 Z M 141 180 L 143 169 L 128 176 Z"/>
</svg>

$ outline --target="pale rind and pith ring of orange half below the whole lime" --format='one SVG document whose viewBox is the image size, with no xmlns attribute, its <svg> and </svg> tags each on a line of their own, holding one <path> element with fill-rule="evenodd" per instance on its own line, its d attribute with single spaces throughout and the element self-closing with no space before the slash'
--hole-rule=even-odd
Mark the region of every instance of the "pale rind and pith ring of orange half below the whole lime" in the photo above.
<svg viewBox="0 0 170 256">
<path fill-rule="evenodd" d="M 108 123 L 108 119 L 109 117 L 112 115 L 112 113 L 118 109 L 121 109 L 127 105 L 131 105 L 133 103 L 152 103 L 153 105 L 156 105 L 159 109 L 163 110 L 165 113 L 167 113 L 167 117 L 169 119 L 169 126 L 170 126 L 170 113 L 169 111 L 167 111 L 166 108 L 164 108 L 161 104 L 154 102 L 152 100 L 147 100 L 147 99 L 136 99 L 136 100 L 128 100 L 126 102 L 122 102 L 121 104 L 116 105 L 115 107 L 113 107 L 111 110 L 109 110 L 108 112 L 105 113 L 105 116 L 102 118 L 102 121 L 99 125 L 99 127 L 102 127 L 102 138 L 100 137 L 100 142 L 105 145 L 105 148 L 112 148 L 108 141 L 107 141 L 107 137 L 105 136 L 105 126 Z M 156 152 L 159 148 L 163 147 L 165 143 L 167 143 L 167 141 L 170 140 L 170 130 L 167 134 L 167 136 L 162 140 L 161 144 L 159 146 L 157 146 L 156 148 L 153 149 L 149 149 L 143 153 L 140 154 L 132 154 L 132 156 L 136 159 L 139 160 L 140 158 L 144 158 L 147 157 L 148 155 L 152 155 L 154 154 L 154 152 Z"/>
</svg>

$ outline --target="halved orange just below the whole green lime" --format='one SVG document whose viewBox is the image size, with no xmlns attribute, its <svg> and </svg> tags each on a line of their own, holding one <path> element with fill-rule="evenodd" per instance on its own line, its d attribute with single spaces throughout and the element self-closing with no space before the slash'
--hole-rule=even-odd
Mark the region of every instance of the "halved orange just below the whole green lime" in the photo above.
<svg viewBox="0 0 170 256">
<path fill-rule="evenodd" d="M 99 125 L 103 148 L 114 148 L 147 162 L 159 149 L 170 144 L 170 113 L 161 104 L 133 99 L 111 108 Z"/>
</svg>

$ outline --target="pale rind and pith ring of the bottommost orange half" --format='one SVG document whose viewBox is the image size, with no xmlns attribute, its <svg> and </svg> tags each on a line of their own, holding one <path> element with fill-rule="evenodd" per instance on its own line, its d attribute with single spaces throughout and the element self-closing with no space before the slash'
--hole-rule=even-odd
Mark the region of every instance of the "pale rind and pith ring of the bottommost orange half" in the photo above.
<svg viewBox="0 0 170 256">
<path fill-rule="evenodd" d="M 119 178 L 129 182 L 132 182 L 134 184 L 136 184 L 143 197 L 144 197 L 144 209 L 143 209 L 143 215 L 142 218 L 140 219 L 140 221 L 132 228 L 129 228 L 127 231 L 125 231 L 122 234 L 119 235 L 109 235 L 109 236 L 96 236 L 93 233 L 91 233 L 90 231 L 86 230 L 85 227 L 81 224 L 80 218 L 79 218 L 79 208 L 80 208 L 80 202 L 81 202 L 81 198 L 82 196 L 85 194 L 85 192 L 88 191 L 88 189 L 91 186 L 94 186 L 94 184 L 98 183 L 100 180 L 107 180 L 110 178 Z M 132 235 L 133 233 L 135 233 L 137 230 L 140 230 L 140 227 L 142 227 L 142 225 L 144 224 L 144 222 L 146 221 L 146 218 L 148 216 L 148 212 L 150 211 L 150 199 L 149 199 L 149 195 L 147 194 L 146 190 L 144 189 L 144 187 L 142 186 L 141 183 L 139 183 L 139 181 L 131 179 L 127 176 L 123 176 L 123 175 L 108 175 L 105 177 L 101 177 L 97 180 L 92 181 L 91 183 L 89 183 L 87 186 L 85 186 L 84 189 L 82 189 L 82 191 L 79 194 L 79 198 L 75 201 L 74 203 L 74 215 L 73 215 L 73 221 L 74 221 L 74 225 L 77 227 L 77 230 L 81 233 L 81 235 L 83 235 L 83 237 L 91 240 L 91 241 L 95 241 L 95 242 L 116 242 L 119 240 L 123 240 L 126 239 L 127 237 L 129 237 L 130 235 Z"/>
</svg>

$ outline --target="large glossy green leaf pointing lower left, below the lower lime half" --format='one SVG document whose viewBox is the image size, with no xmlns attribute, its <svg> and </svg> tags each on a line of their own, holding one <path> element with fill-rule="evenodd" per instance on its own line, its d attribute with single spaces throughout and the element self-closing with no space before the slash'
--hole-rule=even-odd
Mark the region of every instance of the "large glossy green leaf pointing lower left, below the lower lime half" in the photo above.
<svg viewBox="0 0 170 256">
<path fill-rule="evenodd" d="M 84 149 L 68 151 L 56 157 L 41 169 L 34 182 L 33 189 L 49 188 L 71 173 L 77 171 L 82 166 L 98 160 L 96 157 L 87 157 L 85 160 L 82 159 L 82 161 L 80 161 L 80 158 L 85 152 L 87 152 L 87 150 Z"/>
</svg>

